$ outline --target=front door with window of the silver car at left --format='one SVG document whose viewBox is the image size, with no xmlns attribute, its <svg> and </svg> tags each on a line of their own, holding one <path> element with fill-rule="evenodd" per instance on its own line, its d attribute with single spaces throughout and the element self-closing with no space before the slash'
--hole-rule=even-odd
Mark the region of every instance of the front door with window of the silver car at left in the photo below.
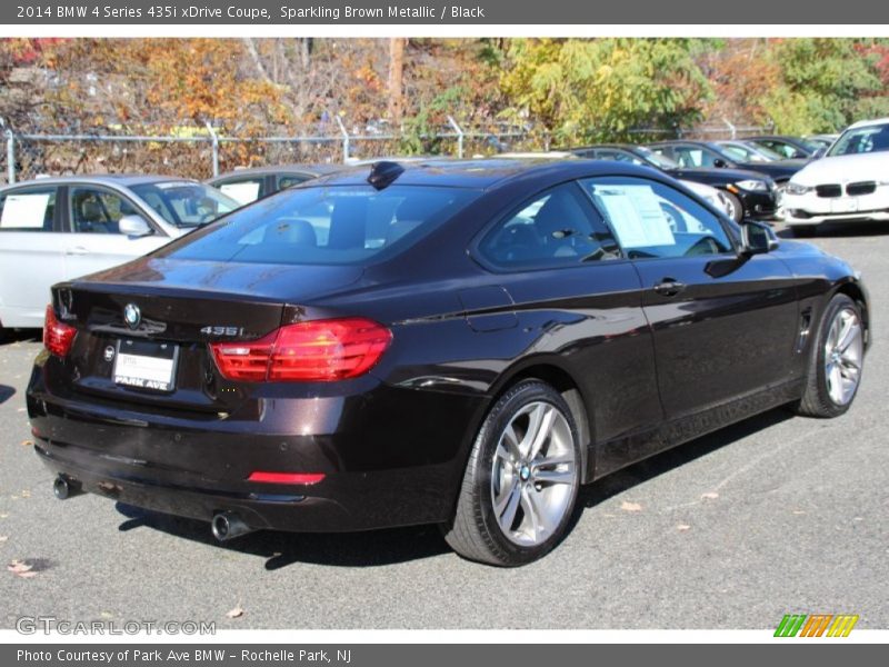
<svg viewBox="0 0 889 667">
<path fill-rule="evenodd" d="M 102 186 L 69 186 L 66 213 L 68 233 L 63 235 L 63 252 L 67 280 L 123 263 L 170 240 L 129 198 Z M 121 233 L 118 222 L 123 216 L 142 217 L 153 233 L 144 237 Z"/>
</svg>

